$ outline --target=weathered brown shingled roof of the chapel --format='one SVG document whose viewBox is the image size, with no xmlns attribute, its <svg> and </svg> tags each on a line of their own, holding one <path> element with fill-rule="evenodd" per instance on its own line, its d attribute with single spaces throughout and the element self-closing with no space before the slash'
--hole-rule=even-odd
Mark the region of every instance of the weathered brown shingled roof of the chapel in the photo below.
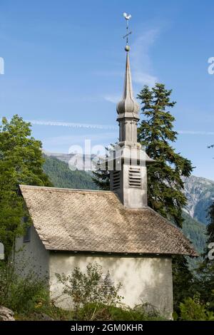
<svg viewBox="0 0 214 335">
<path fill-rule="evenodd" d="M 197 256 L 188 239 L 150 207 L 126 209 L 113 192 L 20 185 L 49 250 Z"/>
</svg>

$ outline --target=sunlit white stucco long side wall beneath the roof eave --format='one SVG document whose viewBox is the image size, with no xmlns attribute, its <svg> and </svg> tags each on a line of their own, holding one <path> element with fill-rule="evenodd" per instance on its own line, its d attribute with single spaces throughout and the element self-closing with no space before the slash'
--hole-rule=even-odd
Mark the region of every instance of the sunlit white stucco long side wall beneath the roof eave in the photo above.
<svg viewBox="0 0 214 335">
<path fill-rule="evenodd" d="M 109 270 L 114 284 L 123 285 L 119 294 L 123 303 L 135 306 L 148 302 L 168 319 L 173 313 L 173 282 L 170 257 L 113 257 L 111 255 L 88 256 L 51 252 L 50 289 L 52 297 L 61 296 L 62 287 L 56 281 L 56 273 L 71 274 L 74 267 L 85 272 L 88 263 L 97 262 L 103 267 L 103 274 Z M 60 300 L 58 300 L 60 301 Z M 71 300 L 64 299 L 61 306 L 69 308 Z"/>
</svg>

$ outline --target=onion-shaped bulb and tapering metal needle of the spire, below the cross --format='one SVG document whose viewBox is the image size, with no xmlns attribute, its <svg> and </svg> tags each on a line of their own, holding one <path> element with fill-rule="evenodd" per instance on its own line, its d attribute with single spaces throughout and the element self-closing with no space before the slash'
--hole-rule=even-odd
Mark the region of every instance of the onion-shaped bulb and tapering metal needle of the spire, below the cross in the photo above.
<svg viewBox="0 0 214 335">
<path fill-rule="evenodd" d="M 118 112 L 118 120 L 121 118 L 133 118 L 135 120 L 139 120 L 138 112 L 140 110 L 140 106 L 133 98 L 133 88 L 131 81 L 131 68 L 129 62 L 128 51 L 130 50 L 129 46 L 126 45 L 126 74 L 124 79 L 124 87 L 123 87 L 123 97 L 122 100 L 119 101 L 117 105 Z"/>
</svg>

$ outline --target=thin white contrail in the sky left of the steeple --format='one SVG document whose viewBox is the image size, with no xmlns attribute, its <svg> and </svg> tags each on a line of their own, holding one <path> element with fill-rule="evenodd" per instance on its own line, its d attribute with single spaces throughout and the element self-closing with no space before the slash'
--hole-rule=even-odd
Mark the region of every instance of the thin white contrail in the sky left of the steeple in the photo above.
<svg viewBox="0 0 214 335">
<path fill-rule="evenodd" d="M 32 125 L 56 125 L 71 128 L 91 128 L 91 129 L 106 129 L 106 130 L 118 129 L 116 125 L 94 125 L 91 123 L 70 123 L 70 122 L 39 121 L 39 120 L 26 120 L 26 122 L 30 122 Z"/>
</svg>

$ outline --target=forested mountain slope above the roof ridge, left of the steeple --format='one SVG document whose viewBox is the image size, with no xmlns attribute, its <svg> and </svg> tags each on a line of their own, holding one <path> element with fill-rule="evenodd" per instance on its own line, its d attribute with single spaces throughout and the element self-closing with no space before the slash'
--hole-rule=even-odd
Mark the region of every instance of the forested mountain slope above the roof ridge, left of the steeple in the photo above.
<svg viewBox="0 0 214 335">
<path fill-rule="evenodd" d="M 68 164 L 54 157 L 44 155 L 44 172 L 55 187 L 77 188 L 82 190 L 96 190 L 91 174 L 85 171 L 71 171 Z"/>
</svg>

